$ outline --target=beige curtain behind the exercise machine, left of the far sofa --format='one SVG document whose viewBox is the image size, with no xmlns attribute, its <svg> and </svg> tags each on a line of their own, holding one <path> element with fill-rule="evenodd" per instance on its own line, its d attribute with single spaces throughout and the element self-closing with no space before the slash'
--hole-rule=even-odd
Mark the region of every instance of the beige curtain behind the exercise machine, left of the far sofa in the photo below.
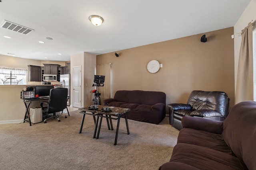
<svg viewBox="0 0 256 170">
<path fill-rule="evenodd" d="M 111 64 L 98 64 L 96 65 L 96 74 L 100 76 L 105 76 L 105 82 L 103 87 L 99 87 L 99 92 L 101 93 L 100 99 L 103 105 L 103 100 L 110 98 L 110 69 Z"/>
</svg>

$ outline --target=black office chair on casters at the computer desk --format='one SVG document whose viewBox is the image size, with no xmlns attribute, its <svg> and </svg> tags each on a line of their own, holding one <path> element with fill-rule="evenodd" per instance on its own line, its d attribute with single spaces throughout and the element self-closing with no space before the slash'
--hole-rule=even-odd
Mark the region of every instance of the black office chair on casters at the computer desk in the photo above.
<svg viewBox="0 0 256 170">
<path fill-rule="evenodd" d="M 52 88 L 50 90 L 50 98 L 48 102 L 41 102 L 41 107 L 44 113 L 52 113 L 53 115 L 44 119 L 57 118 L 60 121 L 56 112 L 63 111 L 67 107 L 68 89 L 67 88 Z M 47 105 L 47 106 L 46 106 Z M 67 118 L 65 116 L 65 118 Z"/>
</svg>

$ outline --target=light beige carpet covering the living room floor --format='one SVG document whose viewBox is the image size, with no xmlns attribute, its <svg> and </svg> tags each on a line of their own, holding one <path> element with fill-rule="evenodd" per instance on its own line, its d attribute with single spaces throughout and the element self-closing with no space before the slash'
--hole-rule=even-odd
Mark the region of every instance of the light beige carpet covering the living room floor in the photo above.
<svg viewBox="0 0 256 170">
<path fill-rule="evenodd" d="M 0 124 L 0 169 L 2 170 L 158 170 L 170 160 L 178 130 L 166 117 L 160 125 L 121 119 L 117 145 L 114 131 L 102 121 L 99 139 L 93 139 L 94 121 L 82 114 L 47 123 Z"/>
</svg>

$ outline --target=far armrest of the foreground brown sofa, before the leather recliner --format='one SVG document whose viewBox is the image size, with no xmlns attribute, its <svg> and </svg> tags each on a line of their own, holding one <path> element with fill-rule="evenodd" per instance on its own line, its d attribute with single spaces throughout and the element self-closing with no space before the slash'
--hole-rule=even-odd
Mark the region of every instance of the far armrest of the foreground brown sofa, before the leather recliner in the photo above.
<svg viewBox="0 0 256 170">
<path fill-rule="evenodd" d="M 223 121 L 186 116 L 181 119 L 183 128 L 192 128 L 210 133 L 222 134 Z"/>
</svg>

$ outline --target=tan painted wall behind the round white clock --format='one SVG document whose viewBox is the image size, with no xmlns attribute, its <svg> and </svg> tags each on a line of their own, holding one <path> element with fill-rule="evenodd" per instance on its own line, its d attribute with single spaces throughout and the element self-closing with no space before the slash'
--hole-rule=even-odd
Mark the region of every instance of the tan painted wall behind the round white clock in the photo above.
<svg viewBox="0 0 256 170">
<path fill-rule="evenodd" d="M 206 34 L 207 42 L 200 42 Z M 149 90 L 166 93 L 166 104 L 186 103 L 192 90 L 224 91 L 234 105 L 233 27 L 98 55 L 97 64 L 112 63 L 112 92 Z M 150 60 L 163 64 L 152 74 Z"/>
</svg>

